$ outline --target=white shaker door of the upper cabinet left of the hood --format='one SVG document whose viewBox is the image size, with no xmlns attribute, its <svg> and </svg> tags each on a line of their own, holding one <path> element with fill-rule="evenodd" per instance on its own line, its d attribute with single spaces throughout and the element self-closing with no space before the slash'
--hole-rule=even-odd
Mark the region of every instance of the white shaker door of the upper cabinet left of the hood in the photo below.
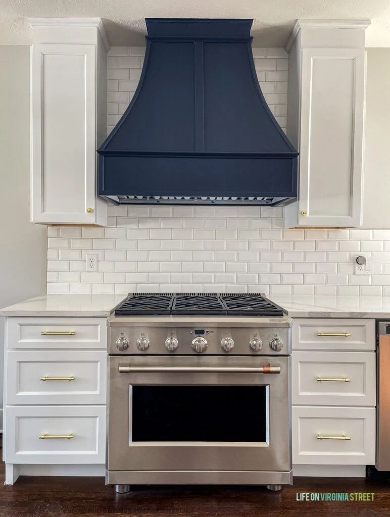
<svg viewBox="0 0 390 517">
<path fill-rule="evenodd" d="M 96 223 L 95 86 L 95 45 L 32 45 L 33 222 Z"/>
</svg>

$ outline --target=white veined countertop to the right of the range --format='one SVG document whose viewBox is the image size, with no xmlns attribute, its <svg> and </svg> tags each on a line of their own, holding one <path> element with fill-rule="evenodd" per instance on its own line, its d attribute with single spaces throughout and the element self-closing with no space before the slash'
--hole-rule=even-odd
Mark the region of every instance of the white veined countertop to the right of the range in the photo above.
<svg viewBox="0 0 390 517">
<path fill-rule="evenodd" d="M 268 296 L 290 317 L 390 318 L 390 297 Z"/>
</svg>

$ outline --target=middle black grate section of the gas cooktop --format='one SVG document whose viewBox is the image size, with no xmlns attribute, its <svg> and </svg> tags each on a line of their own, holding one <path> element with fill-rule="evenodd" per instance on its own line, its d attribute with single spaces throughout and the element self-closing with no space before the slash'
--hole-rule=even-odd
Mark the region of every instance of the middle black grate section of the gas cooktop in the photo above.
<svg viewBox="0 0 390 517">
<path fill-rule="evenodd" d="M 225 315 L 226 307 L 218 294 L 177 294 L 173 301 L 172 315 Z"/>
</svg>

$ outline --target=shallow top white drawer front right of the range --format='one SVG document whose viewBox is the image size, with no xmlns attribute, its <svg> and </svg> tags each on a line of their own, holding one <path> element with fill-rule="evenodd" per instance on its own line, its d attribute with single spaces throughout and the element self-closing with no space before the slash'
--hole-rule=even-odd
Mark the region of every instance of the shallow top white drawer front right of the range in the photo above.
<svg viewBox="0 0 390 517">
<path fill-rule="evenodd" d="M 294 320 L 292 347 L 295 350 L 374 350 L 375 320 Z"/>
</svg>

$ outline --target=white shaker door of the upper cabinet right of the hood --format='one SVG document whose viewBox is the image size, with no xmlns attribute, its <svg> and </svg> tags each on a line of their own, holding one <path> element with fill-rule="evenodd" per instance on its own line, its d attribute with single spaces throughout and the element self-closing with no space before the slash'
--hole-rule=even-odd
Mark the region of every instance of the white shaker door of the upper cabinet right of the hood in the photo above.
<svg viewBox="0 0 390 517">
<path fill-rule="evenodd" d="M 365 50 L 303 49 L 298 225 L 361 226 Z"/>
</svg>

